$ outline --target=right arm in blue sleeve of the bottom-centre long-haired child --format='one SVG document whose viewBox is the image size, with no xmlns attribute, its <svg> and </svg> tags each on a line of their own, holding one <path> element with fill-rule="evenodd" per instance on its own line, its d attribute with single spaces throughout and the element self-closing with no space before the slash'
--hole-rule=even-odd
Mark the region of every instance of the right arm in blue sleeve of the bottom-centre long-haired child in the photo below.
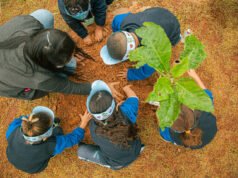
<svg viewBox="0 0 238 178">
<path fill-rule="evenodd" d="M 136 123 L 136 118 L 138 115 L 139 99 L 135 92 L 127 85 L 123 88 L 127 95 L 127 99 L 120 106 L 121 112 L 133 123 Z"/>
</svg>

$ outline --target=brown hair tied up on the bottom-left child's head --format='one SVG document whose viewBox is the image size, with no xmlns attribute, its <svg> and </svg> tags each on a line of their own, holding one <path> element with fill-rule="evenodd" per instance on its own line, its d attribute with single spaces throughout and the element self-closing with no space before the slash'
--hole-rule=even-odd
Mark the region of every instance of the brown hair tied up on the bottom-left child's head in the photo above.
<svg viewBox="0 0 238 178">
<path fill-rule="evenodd" d="M 51 125 L 50 116 L 44 112 L 33 114 L 28 119 L 22 119 L 22 131 L 30 137 L 45 133 Z"/>
</svg>

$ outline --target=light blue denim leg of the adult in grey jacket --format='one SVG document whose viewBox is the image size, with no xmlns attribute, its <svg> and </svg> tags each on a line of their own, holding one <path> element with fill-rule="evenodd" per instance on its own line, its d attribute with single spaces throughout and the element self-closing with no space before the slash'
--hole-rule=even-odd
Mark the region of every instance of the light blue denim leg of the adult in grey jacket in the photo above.
<svg viewBox="0 0 238 178">
<path fill-rule="evenodd" d="M 38 9 L 30 14 L 30 16 L 37 19 L 45 29 L 54 28 L 54 16 L 46 9 Z"/>
</svg>

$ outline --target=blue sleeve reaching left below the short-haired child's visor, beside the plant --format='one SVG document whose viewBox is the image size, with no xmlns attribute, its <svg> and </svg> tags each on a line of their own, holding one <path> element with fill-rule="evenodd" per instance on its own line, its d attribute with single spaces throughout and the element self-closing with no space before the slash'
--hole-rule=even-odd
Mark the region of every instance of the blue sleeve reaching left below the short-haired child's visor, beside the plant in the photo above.
<svg viewBox="0 0 238 178">
<path fill-rule="evenodd" d="M 127 80 L 144 80 L 150 77 L 154 72 L 155 69 L 147 64 L 143 65 L 139 69 L 128 69 Z"/>
</svg>

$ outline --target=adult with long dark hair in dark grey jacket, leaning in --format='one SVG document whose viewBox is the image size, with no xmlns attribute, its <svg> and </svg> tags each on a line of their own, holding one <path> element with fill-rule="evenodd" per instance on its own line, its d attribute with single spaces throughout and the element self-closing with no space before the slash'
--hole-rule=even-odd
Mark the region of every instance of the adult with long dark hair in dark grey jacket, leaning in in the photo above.
<svg viewBox="0 0 238 178">
<path fill-rule="evenodd" d="M 90 83 L 67 76 L 76 68 L 74 54 L 91 57 L 67 33 L 53 29 L 53 20 L 41 9 L 0 26 L 0 96 L 34 100 L 49 92 L 90 93 Z"/>
</svg>

